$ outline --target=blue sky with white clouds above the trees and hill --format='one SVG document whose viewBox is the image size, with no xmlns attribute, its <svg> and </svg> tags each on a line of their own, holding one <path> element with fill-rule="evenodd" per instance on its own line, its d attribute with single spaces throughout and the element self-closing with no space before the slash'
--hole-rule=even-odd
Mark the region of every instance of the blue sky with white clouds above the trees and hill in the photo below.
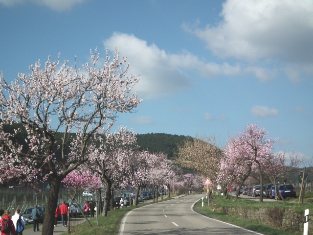
<svg viewBox="0 0 313 235">
<path fill-rule="evenodd" d="M 113 126 L 230 136 L 258 124 L 274 152 L 313 158 L 312 0 L 0 0 L 6 80 L 51 55 L 127 57 L 143 101 Z M 312 164 L 312 163 L 311 163 Z"/>
</svg>

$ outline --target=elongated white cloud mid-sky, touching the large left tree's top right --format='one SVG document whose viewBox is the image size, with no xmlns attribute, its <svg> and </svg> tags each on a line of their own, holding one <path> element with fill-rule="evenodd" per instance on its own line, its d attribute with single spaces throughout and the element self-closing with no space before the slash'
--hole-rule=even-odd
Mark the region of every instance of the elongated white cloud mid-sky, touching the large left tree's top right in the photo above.
<svg viewBox="0 0 313 235">
<path fill-rule="evenodd" d="M 155 44 L 134 35 L 113 33 L 104 41 L 104 47 L 113 51 L 117 47 L 120 56 L 127 56 L 132 74 L 141 74 L 135 90 L 144 98 L 153 98 L 175 94 L 192 85 L 186 71 L 197 71 L 201 76 L 234 75 L 240 71 L 239 66 L 232 67 L 227 63 L 204 63 L 187 51 L 169 54 Z"/>
</svg>

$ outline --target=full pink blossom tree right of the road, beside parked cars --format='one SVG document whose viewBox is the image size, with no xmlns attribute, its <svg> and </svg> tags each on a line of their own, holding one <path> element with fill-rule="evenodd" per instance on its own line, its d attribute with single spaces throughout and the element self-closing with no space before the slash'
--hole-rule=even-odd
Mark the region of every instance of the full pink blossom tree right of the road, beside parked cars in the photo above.
<svg viewBox="0 0 313 235">
<path fill-rule="evenodd" d="M 260 202 L 263 202 L 263 174 L 264 166 L 272 161 L 273 143 L 278 139 L 267 139 L 268 132 L 255 125 L 247 125 L 246 130 L 237 133 L 235 138 L 230 138 L 228 145 L 225 148 L 225 159 L 221 164 L 220 170 L 223 175 L 227 187 L 234 180 L 233 175 L 239 175 L 242 179 L 240 187 L 243 185 L 249 171 L 254 171 L 259 174 L 261 185 Z M 251 167 L 251 170 L 249 169 Z M 237 190 L 238 194 L 239 191 Z M 236 195 L 238 197 L 238 195 Z"/>
</svg>

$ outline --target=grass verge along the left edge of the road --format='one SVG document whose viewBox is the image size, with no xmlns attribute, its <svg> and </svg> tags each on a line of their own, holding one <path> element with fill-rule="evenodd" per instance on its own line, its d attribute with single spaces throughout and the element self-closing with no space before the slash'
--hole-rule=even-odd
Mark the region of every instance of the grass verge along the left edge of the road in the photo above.
<svg viewBox="0 0 313 235">
<path fill-rule="evenodd" d="M 171 198 L 166 198 L 163 200 L 158 200 L 157 202 L 163 202 L 171 200 Z M 108 216 L 98 216 L 98 225 L 96 217 L 90 219 L 90 223 L 92 227 L 90 227 L 89 223 L 83 222 L 80 223 L 74 227 L 70 228 L 70 234 L 72 235 L 104 235 L 104 234 L 110 234 L 110 235 L 117 235 L 119 232 L 119 227 L 121 224 L 121 221 L 125 214 L 129 211 L 132 211 L 136 208 L 144 207 L 150 204 L 154 204 L 157 202 L 150 202 L 150 203 L 144 203 L 137 206 L 127 207 L 127 208 L 121 208 L 119 210 L 109 211 Z M 67 233 L 63 233 L 62 235 L 66 235 Z"/>
</svg>

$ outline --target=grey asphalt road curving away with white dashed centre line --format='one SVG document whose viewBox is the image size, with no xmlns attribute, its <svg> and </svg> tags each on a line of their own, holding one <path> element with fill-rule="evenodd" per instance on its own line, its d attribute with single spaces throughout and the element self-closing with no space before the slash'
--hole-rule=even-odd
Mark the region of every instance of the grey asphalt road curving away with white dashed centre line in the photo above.
<svg viewBox="0 0 313 235">
<path fill-rule="evenodd" d="M 193 211 L 202 196 L 186 195 L 130 211 L 122 220 L 119 235 L 258 234 Z"/>
</svg>

